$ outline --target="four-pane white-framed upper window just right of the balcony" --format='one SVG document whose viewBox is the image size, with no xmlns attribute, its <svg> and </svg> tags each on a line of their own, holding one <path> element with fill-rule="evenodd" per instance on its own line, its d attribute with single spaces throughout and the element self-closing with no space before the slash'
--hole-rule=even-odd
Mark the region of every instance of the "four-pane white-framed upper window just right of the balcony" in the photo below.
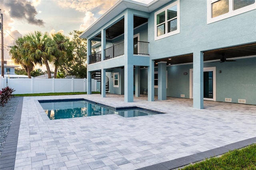
<svg viewBox="0 0 256 170">
<path fill-rule="evenodd" d="M 155 40 L 180 33 L 180 0 L 158 10 L 155 16 Z"/>
</svg>

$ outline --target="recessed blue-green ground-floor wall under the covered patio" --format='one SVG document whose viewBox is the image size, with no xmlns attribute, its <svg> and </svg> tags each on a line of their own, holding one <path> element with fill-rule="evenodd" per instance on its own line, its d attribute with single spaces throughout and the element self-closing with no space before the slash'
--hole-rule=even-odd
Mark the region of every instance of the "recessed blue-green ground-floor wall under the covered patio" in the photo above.
<svg viewBox="0 0 256 170">
<path fill-rule="evenodd" d="M 245 99 L 246 104 L 256 105 L 256 57 L 236 59 L 235 62 L 208 62 L 204 67 L 216 67 L 216 101 L 225 102 L 225 98 L 238 103 Z M 190 98 L 190 72 L 192 64 L 167 66 L 168 97 Z M 219 73 L 221 71 L 221 73 Z M 184 75 L 183 73 L 188 73 Z M 147 85 L 147 71 L 141 71 L 142 87 Z M 157 95 L 155 88 L 154 95 Z"/>
</svg>

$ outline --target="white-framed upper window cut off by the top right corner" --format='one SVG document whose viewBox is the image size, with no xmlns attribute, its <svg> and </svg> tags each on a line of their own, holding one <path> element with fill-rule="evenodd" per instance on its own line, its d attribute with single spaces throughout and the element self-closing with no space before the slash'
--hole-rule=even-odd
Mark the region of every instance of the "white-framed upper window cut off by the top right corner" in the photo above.
<svg viewBox="0 0 256 170">
<path fill-rule="evenodd" d="M 255 0 L 207 0 L 207 24 L 254 9 Z"/>
</svg>

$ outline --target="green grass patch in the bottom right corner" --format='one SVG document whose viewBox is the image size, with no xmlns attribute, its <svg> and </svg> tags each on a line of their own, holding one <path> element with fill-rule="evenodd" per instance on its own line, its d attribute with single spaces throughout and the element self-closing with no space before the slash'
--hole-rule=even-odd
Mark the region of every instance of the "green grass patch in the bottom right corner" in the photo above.
<svg viewBox="0 0 256 170">
<path fill-rule="evenodd" d="M 185 166 L 182 170 L 256 170 L 256 144 Z"/>
</svg>

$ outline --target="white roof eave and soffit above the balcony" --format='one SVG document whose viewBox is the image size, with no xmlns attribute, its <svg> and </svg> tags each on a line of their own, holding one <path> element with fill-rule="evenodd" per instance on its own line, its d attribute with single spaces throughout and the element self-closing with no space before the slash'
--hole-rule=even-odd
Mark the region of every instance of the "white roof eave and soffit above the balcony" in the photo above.
<svg viewBox="0 0 256 170">
<path fill-rule="evenodd" d="M 124 11 L 127 8 L 143 12 L 152 12 L 170 1 L 172 0 L 154 0 L 149 4 L 143 4 L 132 0 L 120 0 L 105 14 L 103 14 L 98 20 L 96 20 L 96 22 L 94 22 L 89 28 L 87 28 L 79 37 L 88 38 L 88 36 L 93 34 L 96 30 L 100 29 L 102 26 L 112 20 L 112 18 L 114 18 L 115 16 L 120 14 L 120 12 Z"/>
</svg>

